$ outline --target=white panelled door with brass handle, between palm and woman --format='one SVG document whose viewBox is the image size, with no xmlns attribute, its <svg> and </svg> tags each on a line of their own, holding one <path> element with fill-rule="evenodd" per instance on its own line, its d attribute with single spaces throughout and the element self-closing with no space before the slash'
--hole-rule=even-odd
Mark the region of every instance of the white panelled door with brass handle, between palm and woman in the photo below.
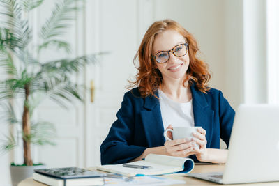
<svg viewBox="0 0 279 186">
<path fill-rule="evenodd" d="M 95 98 L 86 99 L 86 166 L 100 164 L 100 144 L 116 120 L 127 79 L 133 79 L 133 58 L 152 22 L 152 1 L 87 1 L 86 53 L 108 52 L 86 69 L 86 84 L 94 81 Z"/>
</svg>

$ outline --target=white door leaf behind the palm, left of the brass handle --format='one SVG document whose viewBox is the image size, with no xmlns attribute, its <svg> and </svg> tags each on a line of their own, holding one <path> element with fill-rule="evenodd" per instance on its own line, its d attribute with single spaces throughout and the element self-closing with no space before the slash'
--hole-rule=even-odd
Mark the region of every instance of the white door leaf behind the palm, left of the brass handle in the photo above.
<svg viewBox="0 0 279 186">
<path fill-rule="evenodd" d="M 34 32 L 40 31 L 38 28 L 45 22 L 47 17 L 52 14 L 56 1 L 44 1 L 38 11 L 33 13 Z M 84 54 L 84 30 L 83 30 L 83 13 L 77 13 L 72 26 L 67 30 L 63 40 L 70 42 L 72 52 L 66 54 L 63 51 L 52 49 L 44 52 L 39 57 L 41 61 L 61 59 L 65 57 L 76 57 Z M 36 40 L 37 39 L 37 40 Z M 36 42 L 40 42 L 38 38 L 34 38 Z M 73 75 L 73 79 L 78 84 L 84 84 L 83 73 Z M 68 104 L 68 109 L 59 107 L 58 104 L 45 100 L 36 112 L 36 117 L 43 121 L 54 123 L 56 128 L 56 146 L 43 146 L 35 148 L 33 161 L 43 162 L 47 167 L 61 166 L 84 166 L 84 105 L 82 102 L 75 101 Z"/>
</svg>

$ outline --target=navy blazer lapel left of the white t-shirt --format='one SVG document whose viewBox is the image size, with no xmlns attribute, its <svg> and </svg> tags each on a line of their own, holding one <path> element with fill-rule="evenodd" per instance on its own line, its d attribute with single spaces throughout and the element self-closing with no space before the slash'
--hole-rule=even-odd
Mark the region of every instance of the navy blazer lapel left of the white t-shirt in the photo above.
<svg viewBox="0 0 279 186">
<path fill-rule="evenodd" d="M 158 96 L 158 91 L 156 95 Z M 146 97 L 144 99 L 144 109 L 140 114 L 148 146 L 163 146 L 165 137 L 163 135 L 164 127 L 159 100 L 152 95 Z"/>
</svg>

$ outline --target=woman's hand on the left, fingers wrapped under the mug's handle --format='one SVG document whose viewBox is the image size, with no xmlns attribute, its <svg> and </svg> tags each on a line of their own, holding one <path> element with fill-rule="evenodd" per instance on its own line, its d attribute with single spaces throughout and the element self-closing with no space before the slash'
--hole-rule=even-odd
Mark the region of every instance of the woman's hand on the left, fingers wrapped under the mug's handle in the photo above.
<svg viewBox="0 0 279 186">
<path fill-rule="evenodd" d="M 172 129 L 172 125 L 169 125 L 167 129 Z M 171 132 L 169 132 L 171 133 Z M 172 139 L 172 135 L 167 134 L 169 139 Z M 188 155 L 194 155 L 193 150 L 195 148 L 195 141 L 190 139 L 176 139 L 172 141 L 165 141 L 165 154 L 176 157 L 186 157 Z"/>
</svg>

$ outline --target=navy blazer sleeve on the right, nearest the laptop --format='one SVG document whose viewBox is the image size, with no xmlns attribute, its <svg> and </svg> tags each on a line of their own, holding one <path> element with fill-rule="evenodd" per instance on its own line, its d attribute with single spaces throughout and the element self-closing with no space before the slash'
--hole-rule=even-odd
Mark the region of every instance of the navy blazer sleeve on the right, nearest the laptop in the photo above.
<svg viewBox="0 0 279 186">
<path fill-rule="evenodd" d="M 224 98 L 223 93 L 219 91 L 219 116 L 220 116 L 220 137 L 229 147 L 229 139 L 232 133 L 232 125 L 234 123 L 234 109 Z"/>
</svg>

